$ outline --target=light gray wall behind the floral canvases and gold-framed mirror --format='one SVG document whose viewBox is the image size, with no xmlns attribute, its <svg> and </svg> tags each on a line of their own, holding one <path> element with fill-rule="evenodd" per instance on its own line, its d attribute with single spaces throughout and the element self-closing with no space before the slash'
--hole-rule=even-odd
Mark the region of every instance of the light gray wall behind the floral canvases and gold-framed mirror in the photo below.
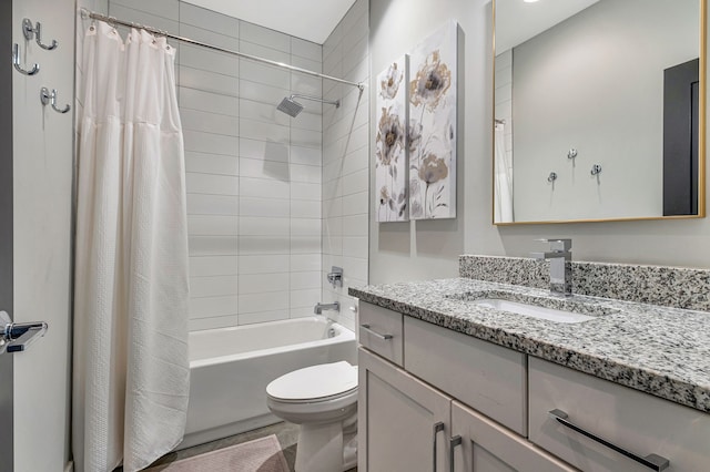
<svg viewBox="0 0 710 472">
<path fill-rule="evenodd" d="M 548 236 L 574 238 L 577 260 L 710 267 L 708 218 L 493 226 L 491 3 L 378 0 L 371 2 L 369 18 L 373 76 L 450 18 L 458 20 L 465 34 L 459 64 L 466 74 L 458 111 L 459 217 L 383 225 L 371 216 L 371 283 L 454 277 L 459 254 L 527 257 L 544 247 L 534 239 Z M 369 93 L 374 100 L 374 86 Z M 373 144 L 371 135 L 371 147 Z"/>
</svg>

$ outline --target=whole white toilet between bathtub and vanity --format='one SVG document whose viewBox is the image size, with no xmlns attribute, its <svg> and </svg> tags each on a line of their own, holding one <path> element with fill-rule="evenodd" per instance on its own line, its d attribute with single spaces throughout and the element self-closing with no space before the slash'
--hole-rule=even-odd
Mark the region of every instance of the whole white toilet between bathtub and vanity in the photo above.
<svg viewBox="0 0 710 472">
<path fill-rule="evenodd" d="M 276 417 L 298 424 L 296 472 L 357 464 L 357 366 L 341 361 L 294 370 L 266 386 Z"/>
</svg>

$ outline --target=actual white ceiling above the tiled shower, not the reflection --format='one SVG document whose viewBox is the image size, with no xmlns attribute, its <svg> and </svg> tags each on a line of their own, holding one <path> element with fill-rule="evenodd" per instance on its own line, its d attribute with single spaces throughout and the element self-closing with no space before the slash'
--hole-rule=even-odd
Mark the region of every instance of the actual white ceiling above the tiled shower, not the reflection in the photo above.
<svg viewBox="0 0 710 472">
<path fill-rule="evenodd" d="M 186 0 L 230 17 L 323 44 L 355 0 Z"/>
</svg>

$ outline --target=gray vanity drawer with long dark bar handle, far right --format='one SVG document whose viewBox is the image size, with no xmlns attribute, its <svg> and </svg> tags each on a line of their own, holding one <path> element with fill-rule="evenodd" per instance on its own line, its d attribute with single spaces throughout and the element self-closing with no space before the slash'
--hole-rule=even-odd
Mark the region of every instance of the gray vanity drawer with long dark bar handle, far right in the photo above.
<svg viewBox="0 0 710 472">
<path fill-rule="evenodd" d="M 710 414 L 529 358 L 530 441 L 588 472 L 649 469 L 549 415 L 567 421 L 639 456 L 658 454 L 666 471 L 702 471 L 710 466 Z"/>
</svg>

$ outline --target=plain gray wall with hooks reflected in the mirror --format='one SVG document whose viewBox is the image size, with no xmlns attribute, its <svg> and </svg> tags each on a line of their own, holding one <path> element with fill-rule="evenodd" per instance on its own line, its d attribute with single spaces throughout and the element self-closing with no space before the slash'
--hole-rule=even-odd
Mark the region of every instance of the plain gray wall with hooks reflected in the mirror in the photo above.
<svg viewBox="0 0 710 472">
<path fill-rule="evenodd" d="M 605 0 L 514 48 L 517 222 L 662 215 L 663 70 L 697 25 L 694 1 Z"/>
</svg>

